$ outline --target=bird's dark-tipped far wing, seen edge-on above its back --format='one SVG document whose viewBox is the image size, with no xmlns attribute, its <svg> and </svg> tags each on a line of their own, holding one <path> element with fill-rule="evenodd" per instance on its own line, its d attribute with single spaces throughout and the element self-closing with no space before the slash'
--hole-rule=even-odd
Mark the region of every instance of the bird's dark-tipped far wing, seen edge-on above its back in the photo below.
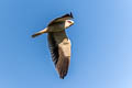
<svg viewBox="0 0 132 88">
<path fill-rule="evenodd" d="M 72 12 L 70 12 L 70 14 L 67 13 L 67 14 L 61 16 L 61 18 L 54 19 L 53 21 L 50 22 L 48 26 L 56 23 L 56 22 L 62 22 L 62 21 L 70 20 L 70 19 L 74 19 Z"/>
</svg>

